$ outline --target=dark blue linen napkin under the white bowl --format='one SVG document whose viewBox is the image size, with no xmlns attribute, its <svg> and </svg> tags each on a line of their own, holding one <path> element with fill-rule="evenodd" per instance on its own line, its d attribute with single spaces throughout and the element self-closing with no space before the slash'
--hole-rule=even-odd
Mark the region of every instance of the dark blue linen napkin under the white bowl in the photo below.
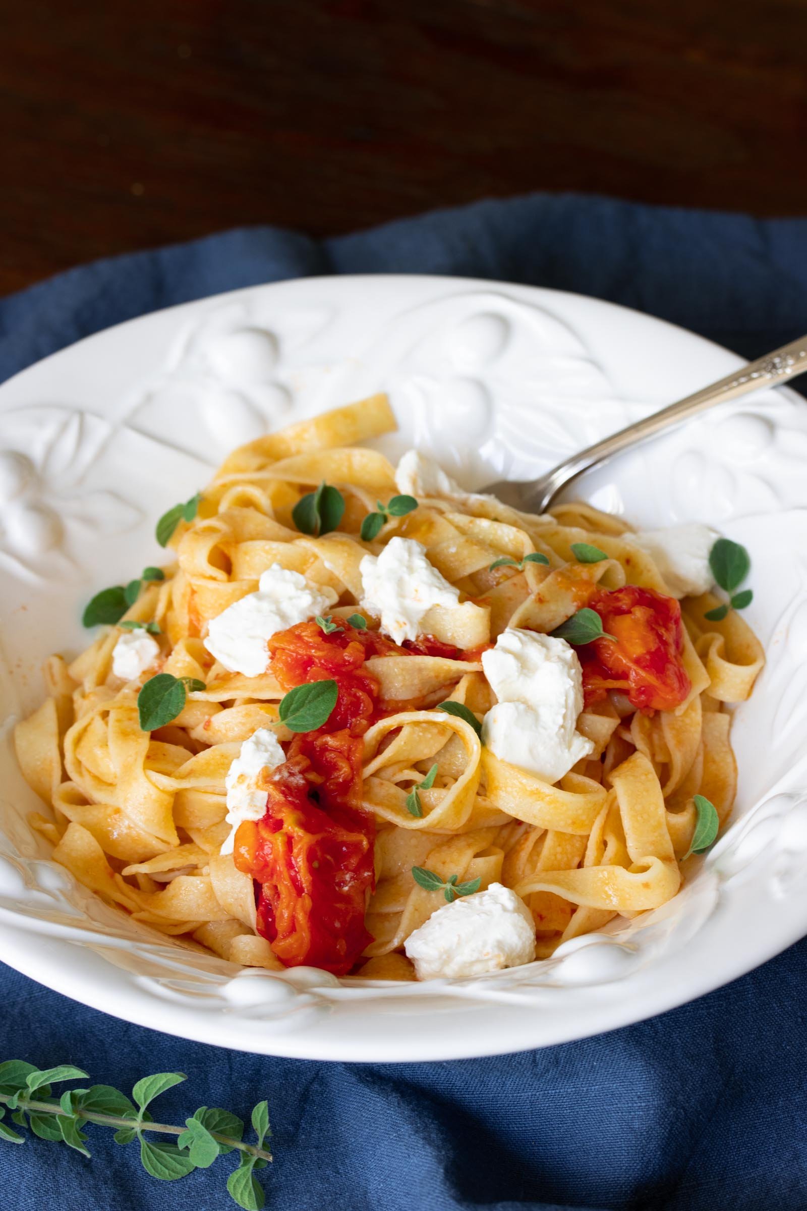
<svg viewBox="0 0 807 1211">
<path fill-rule="evenodd" d="M 807 220 L 599 197 L 486 201 L 327 241 L 273 228 L 81 266 L 0 300 L 0 380 L 155 308 L 312 274 L 428 272 L 593 294 L 747 357 L 807 331 Z M 105 1017 L 0 966 L 0 1060 L 71 1062 L 128 1089 L 180 1071 L 167 1121 L 263 1097 L 282 1211 L 803 1211 L 807 941 L 708 997 L 622 1031 L 494 1060 L 340 1064 L 186 1043 Z M 229 1159 L 157 1183 L 91 1129 L 93 1159 L 0 1141 L 16 1211 L 220 1211 Z"/>
</svg>

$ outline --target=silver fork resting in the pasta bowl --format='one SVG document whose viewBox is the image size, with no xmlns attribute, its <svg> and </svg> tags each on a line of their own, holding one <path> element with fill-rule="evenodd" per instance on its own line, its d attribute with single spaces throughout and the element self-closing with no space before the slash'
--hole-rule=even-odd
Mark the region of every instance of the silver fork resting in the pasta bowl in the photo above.
<svg viewBox="0 0 807 1211">
<path fill-rule="evenodd" d="M 750 391 L 760 391 L 762 388 L 778 386 L 789 379 L 797 378 L 807 371 L 807 335 L 799 340 L 783 345 L 782 349 L 757 357 L 742 371 L 727 374 L 710 386 L 704 386 L 694 395 L 687 395 L 678 403 L 670 403 L 661 412 L 655 412 L 644 420 L 638 420 L 634 425 L 619 429 L 618 432 L 604 437 L 601 442 L 595 442 L 578 454 L 572 454 L 564 463 L 559 463 L 540 480 L 509 481 L 501 480 L 498 483 L 489 483 L 483 492 L 490 492 L 503 504 L 511 505 L 525 513 L 542 513 L 549 507 L 554 498 L 565 488 L 567 483 L 576 480 L 583 471 L 589 471 L 593 466 L 605 463 L 621 454 L 622 450 L 640 442 L 646 442 L 650 437 L 680 425 L 698 412 L 705 412 L 717 403 L 727 400 L 736 400 L 739 395 L 748 395 Z"/>
</svg>

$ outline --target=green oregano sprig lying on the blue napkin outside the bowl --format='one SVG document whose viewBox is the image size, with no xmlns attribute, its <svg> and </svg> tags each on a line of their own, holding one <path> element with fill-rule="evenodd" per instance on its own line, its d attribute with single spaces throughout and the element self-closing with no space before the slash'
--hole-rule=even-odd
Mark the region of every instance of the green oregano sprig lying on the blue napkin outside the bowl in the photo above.
<svg viewBox="0 0 807 1211">
<path fill-rule="evenodd" d="M 252 1112 L 255 1143 L 244 1143 L 243 1121 L 229 1110 L 201 1106 L 184 1126 L 155 1123 L 148 1107 L 166 1090 L 181 1084 L 186 1077 L 179 1072 L 160 1072 L 144 1077 L 127 1097 L 113 1085 L 91 1085 L 69 1089 L 59 1098 L 51 1096 L 51 1085 L 64 1080 L 83 1080 L 87 1073 L 73 1064 L 40 1069 L 24 1060 L 0 1063 L 0 1140 L 25 1143 L 25 1136 L 4 1121 L 12 1110 L 13 1123 L 30 1129 L 40 1140 L 65 1143 L 83 1157 L 90 1157 L 87 1125 L 115 1131 L 115 1143 L 138 1141 L 140 1164 L 151 1177 L 173 1182 L 186 1177 L 195 1169 L 208 1169 L 219 1157 L 238 1152 L 238 1167 L 227 1178 L 230 1196 L 244 1211 L 260 1211 L 264 1190 L 255 1178 L 272 1154 L 264 1144 L 271 1135 L 269 1108 L 259 1102 Z M 175 1136 L 175 1143 L 152 1141 L 148 1136 Z"/>
</svg>

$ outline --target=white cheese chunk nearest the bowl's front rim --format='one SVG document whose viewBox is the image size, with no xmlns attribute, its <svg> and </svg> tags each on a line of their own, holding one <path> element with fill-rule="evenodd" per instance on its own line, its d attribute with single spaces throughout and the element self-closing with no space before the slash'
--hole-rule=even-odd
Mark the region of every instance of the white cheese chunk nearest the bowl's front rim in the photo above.
<svg viewBox="0 0 807 1211">
<path fill-rule="evenodd" d="M 535 924 L 524 901 L 501 883 L 433 912 L 404 943 L 419 980 L 462 980 L 518 968 L 535 958 Z"/>
</svg>

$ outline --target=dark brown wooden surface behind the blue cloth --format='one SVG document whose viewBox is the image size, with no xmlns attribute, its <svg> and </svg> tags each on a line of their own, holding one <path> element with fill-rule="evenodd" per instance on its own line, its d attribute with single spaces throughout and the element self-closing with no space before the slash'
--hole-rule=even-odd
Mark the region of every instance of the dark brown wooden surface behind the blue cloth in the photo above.
<svg viewBox="0 0 807 1211">
<path fill-rule="evenodd" d="M 586 190 L 807 212 L 807 0 L 0 0 L 0 292 Z"/>
</svg>

